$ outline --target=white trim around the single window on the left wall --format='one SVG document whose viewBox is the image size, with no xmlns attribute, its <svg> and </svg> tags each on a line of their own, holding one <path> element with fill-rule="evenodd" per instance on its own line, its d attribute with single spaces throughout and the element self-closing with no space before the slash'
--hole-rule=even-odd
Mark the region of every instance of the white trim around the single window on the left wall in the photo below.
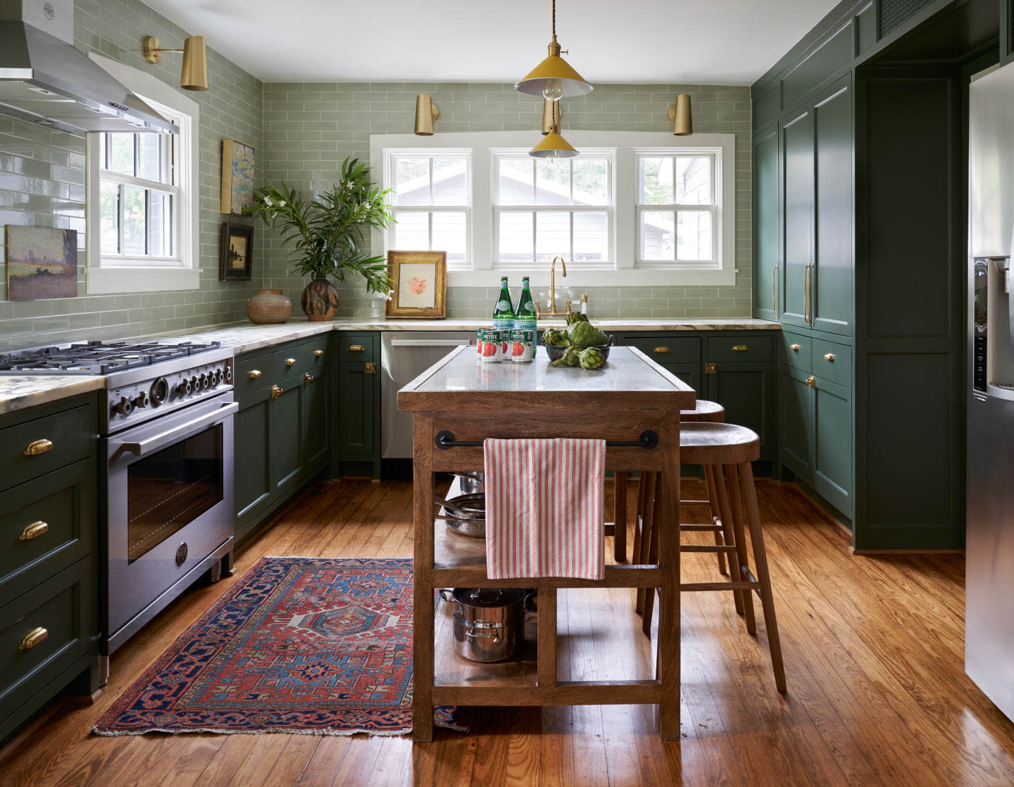
<svg viewBox="0 0 1014 787">
<path fill-rule="evenodd" d="M 200 106 L 193 98 L 180 93 L 158 77 L 125 66 L 110 58 L 89 53 L 94 60 L 116 79 L 134 92 L 148 96 L 152 101 L 171 106 L 182 116 L 179 123 L 180 146 L 189 143 L 189 166 L 178 167 L 176 184 L 163 186 L 164 191 L 178 194 L 176 247 L 178 257 L 130 258 L 114 256 L 104 261 L 99 239 L 99 172 L 98 134 L 88 134 L 85 163 L 87 200 L 85 208 L 85 249 L 87 257 L 86 292 L 89 295 L 128 292 L 164 292 L 168 290 L 196 290 L 201 286 L 199 252 L 198 187 L 199 181 L 199 128 Z M 103 264 L 104 263 L 104 264 Z"/>
</svg>

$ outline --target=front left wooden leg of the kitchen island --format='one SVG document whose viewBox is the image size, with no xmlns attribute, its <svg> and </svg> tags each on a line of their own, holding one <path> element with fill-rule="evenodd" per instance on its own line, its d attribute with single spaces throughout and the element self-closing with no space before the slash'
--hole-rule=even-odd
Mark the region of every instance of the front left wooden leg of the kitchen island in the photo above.
<svg viewBox="0 0 1014 787">
<path fill-rule="evenodd" d="M 433 740 L 433 419 L 413 419 L 413 679 L 412 739 Z"/>
</svg>

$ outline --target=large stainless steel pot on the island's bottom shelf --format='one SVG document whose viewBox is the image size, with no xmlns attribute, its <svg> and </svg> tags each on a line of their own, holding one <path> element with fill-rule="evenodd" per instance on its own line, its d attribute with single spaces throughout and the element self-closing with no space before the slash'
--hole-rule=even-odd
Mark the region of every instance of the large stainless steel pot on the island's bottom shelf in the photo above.
<svg viewBox="0 0 1014 787">
<path fill-rule="evenodd" d="M 517 587 L 441 588 L 454 604 L 454 652 L 469 661 L 503 661 L 524 639 L 528 592 Z"/>
</svg>

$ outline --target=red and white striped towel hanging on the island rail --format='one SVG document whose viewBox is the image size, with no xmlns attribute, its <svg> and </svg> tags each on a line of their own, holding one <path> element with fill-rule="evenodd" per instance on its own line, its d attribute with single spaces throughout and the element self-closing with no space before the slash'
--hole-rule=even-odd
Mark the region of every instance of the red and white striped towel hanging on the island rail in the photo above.
<svg viewBox="0 0 1014 787">
<path fill-rule="evenodd" d="M 605 575 L 605 441 L 488 438 L 490 579 Z"/>
</svg>

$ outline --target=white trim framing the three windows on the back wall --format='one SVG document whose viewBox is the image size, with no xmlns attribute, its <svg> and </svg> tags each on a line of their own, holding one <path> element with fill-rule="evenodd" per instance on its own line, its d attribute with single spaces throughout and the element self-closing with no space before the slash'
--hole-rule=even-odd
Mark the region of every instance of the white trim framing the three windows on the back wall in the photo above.
<svg viewBox="0 0 1014 787">
<path fill-rule="evenodd" d="M 736 234 L 735 234 L 735 135 L 694 134 L 690 137 L 674 137 L 665 132 L 612 132 L 612 131 L 567 131 L 565 136 L 578 150 L 614 149 L 615 170 L 612 188 L 615 195 L 623 196 L 614 201 L 612 243 L 615 267 L 610 269 L 575 269 L 568 274 L 571 286 L 617 287 L 617 286 L 711 286 L 724 287 L 736 283 Z M 449 287 L 488 287 L 494 259 L 493 231 L 493 151 L 504 148 L 530 148 L 538 140 L 538 131 L 491 131 L 435 134 L 432 137 L 417 137 L 413 134 L 374 134 L 370 136 L 370 164 L 380 172 L 384 166 L 384 150 L 391 148 L 470 148 L 473 150 L 473 194 L 469 259 L 470 271 L 448 271 Z M 718 259 L 721 268 L 638 268 L 636 264 L 638 233 L 636 227 L 637 173 L 635 171 L 635 151 L 642 148 L 665 148 L 672 152 L 691 152 L 696 149 L 718 149 L 721 171 L 716 172 L 716 182 L 722 184 L 719 223 L 721 231 L 717 242 L 721 244 Z M 371 236 L 373 247 L 384 249 L 382 232 L 374 230 Z M 378 251 L 379 253 L 379 251 Z M 549 265 L 537 263 L 537 268 L 528 271 L 532 286 L 545 287 L 550 283 Z"/>
</svg>

